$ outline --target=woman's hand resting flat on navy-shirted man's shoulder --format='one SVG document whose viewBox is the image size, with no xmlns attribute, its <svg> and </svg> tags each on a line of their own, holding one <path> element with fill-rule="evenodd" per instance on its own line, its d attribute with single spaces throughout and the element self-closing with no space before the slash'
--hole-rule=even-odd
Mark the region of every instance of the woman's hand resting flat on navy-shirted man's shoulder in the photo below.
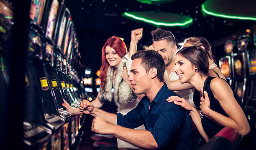
<svg viewBox="0 0 256 150">
<path fill-rule="evenodd" d="M 187 100 L 185 100 L 184 98 L 181 98 L 181 97 L 179 97 L 179 96 L 170 96 L 170 97 L 168 97 L 166 100 L 167 100 L 168 102 L 174 102 L 174 104 L 176 104 L 176 105 L 180 105 L 180 106 L 183 107 L 185 110 L 191 111 L 191 110 L 194 109 L 194 107 L 193 107 L 191 104 L 189 104 L 189 103 L 187 102 Z"/>
</svg>

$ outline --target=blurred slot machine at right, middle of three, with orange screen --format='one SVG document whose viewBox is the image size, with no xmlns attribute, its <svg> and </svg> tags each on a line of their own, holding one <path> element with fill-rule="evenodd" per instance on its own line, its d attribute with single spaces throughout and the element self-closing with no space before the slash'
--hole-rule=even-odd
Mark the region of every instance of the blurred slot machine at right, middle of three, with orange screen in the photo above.
<svg viewBox="0 0 256 150">
<path fill-rule="evenodd" d="M 240 40 L 238 40 L 240 41 Z M 230 44 L 228 44 L 230 43 Z M 232 67 L 232 87 L 236 91 L 239 97 L 241 97 L 242 102 L 245 99 L 245 92 L 246 92 L 246 81 L 247 81 L 247 74 L 246 74 L 246 50 L 241 47 L 241 45 L 237 45 L 235 38 L 231 41 L 226 42 L 225 47 L 232 47 L 232 53 L 231 55 L 231 64 Z M 230 46 L 228 46 L 230 45 Z"/>
</svg>

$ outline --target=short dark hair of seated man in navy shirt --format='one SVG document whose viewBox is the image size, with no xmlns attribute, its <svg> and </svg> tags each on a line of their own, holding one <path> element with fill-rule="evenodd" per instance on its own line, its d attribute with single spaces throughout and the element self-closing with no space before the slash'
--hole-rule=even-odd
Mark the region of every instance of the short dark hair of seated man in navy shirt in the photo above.
<svg viewBox="0 0 256 150">
<path fill-rule="evenodd" d="M 153 67 L 157 69 L 156 77 L 163 82 L 164 81 L 164 71 L 165 65 L 163 57 L 154 50 L 140 50 L 132 55 L 131 59 L 135 60 L 141 58 L 141 65 L 144 67 L 146 72 Z"/>
</svg>

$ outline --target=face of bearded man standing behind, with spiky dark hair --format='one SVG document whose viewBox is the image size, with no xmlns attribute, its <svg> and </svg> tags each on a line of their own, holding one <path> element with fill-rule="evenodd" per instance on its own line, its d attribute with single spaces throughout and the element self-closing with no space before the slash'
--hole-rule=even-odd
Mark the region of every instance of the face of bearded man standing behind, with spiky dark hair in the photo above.
<svg viewBox="0 0 256 150">
<path fill-rule="evenodd" d="M 174 45 L 169 44 L 167 40 L 154 41 L 153 43 L 154 50 L 159 52 L 163 57 L 165 66 L 170 65 L 174 59 L 174 55 L 172 53 Z"/>
</svg>

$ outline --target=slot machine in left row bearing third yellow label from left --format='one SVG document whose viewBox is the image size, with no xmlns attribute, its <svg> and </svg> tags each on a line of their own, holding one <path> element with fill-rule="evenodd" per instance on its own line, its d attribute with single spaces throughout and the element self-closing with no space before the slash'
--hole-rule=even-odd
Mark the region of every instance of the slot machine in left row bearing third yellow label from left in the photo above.
<svg viewBox="0 0 256 150">
<path fill-rule="evenodd" d="M 67 78 L 68 60 L 66 55 L 70 39 L 69 37 L 73 28 L 73 23 L 71 22 L 71 19 L 72 18 L 70 16 L 69 10 L 67 8 L 64 8 L 59 17 L 59 30 L 57 32 L 58 38 L 56 38 L 55 40 L 56 46 L 54 49 L 54 57 L 56 58 L 55 61 L 57 61 L 55 69 L 61 83 L 63 94 L 66 97 L 66 101 L 72 108 L 76 108 L 79 107 L 79 105 L 75 103 L 74 96 L 70 91 L 70 83 Z M 75 144 L 75 115 L 72 115 L 66 132 L 69 133 L 69 148 L 75 148 L 77 146 Z"/>
</svg>

